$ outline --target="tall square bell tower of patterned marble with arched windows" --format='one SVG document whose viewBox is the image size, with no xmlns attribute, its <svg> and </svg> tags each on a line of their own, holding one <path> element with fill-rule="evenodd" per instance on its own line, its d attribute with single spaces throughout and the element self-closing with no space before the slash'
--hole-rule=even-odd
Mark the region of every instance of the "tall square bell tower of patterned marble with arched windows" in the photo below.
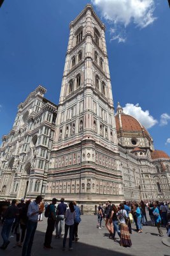
<svg viewBox="0 0 170 256">
<path fill-rule="evenodd" d="M 70 25 L 46 195 L 123 196 L 105 26 L 92 5 Z M 107 199 L 108 200 L 108 199 Z"/>
</svg>

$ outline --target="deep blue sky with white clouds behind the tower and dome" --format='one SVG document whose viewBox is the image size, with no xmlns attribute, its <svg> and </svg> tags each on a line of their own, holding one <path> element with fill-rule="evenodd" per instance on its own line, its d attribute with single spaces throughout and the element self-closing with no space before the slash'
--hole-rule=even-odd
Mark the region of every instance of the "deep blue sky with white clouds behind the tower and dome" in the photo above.
<svg viewBox="0 0 170 256">
<path fill-rule="evenodd" d="M 170 10 L 162 0 L 5 0 L 0 9 L 0 137 L 39 84 L 59 102 L 69 22 L 87 3 L 106 25 L 114 106 L 138 117 L 170 156 Z M 133 2 L 133 3 L 132 3 Z M 130 4 L 129 4 L 130 3 Z M 169 140 L 168 140 L 169 139 Z M 167 141 L 167 143 L 166 143 Z M 168 142 L 169 141 L 169 142 Z"/>
</svg>

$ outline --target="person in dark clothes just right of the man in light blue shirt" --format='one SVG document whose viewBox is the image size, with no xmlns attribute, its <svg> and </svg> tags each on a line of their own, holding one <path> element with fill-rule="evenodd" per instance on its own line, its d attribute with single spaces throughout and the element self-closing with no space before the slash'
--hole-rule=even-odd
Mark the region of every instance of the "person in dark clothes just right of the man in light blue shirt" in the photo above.
<svg viewBox="0 0 170 256">
<path fill-rule="evenodd" d="M 57 203 L 57 199 L 53 198 L 52 204 L 50 204 L 49 215 L 47 220 L 47 228 L 46 228 L 45 243 L 44 243 L 45 249 L 52 249 L 52 246 L 51 246 L 52 234 L 53 234 L 53 229 L 56 221 L 56 207 L 55 207 L 56 203 Z"/>
</svg>

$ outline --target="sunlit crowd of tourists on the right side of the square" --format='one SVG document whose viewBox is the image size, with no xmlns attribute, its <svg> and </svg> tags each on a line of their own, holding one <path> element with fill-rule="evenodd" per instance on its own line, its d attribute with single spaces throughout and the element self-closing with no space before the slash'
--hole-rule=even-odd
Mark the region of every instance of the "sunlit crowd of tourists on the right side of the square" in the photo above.
<svg viewBox="0 0 170 256">
<path fill-rule="evenodd" d="M 170 236 L 170 203 L 167 202 L 124 202 L 118 207 L 110 201 L 105 205 L 99 203 L 97 227 L 101 229 L 104 220 L 109 237 L 117 241 L 117 233 L 120 246 L 131 247 L 131 223 L 135 223 L 136 232 L 142 233 L 143 226 L 148 225 L 146 211 L 149 212 L 152 226 L 158 229 L 158 236 L 163 236 L 161 225 L 167 228 L 167 236 Z"/>
</svg>

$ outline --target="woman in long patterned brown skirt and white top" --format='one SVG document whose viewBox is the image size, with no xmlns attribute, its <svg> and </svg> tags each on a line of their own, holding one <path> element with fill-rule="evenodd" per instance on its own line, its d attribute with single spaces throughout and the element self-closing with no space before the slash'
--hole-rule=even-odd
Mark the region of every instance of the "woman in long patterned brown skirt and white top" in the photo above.
<svg viewBox="0 0 170 256">
<path fill-rule="evenodd" d="M 125 223 L 128 220 L 127 211 L 124 209 L 124 204 L 120 204 L 120 211 L 118 211 L 118 219 L 120 221 L 120 246 L 131 247 L 131 237 L 129 228 Z"/>
</svg>

